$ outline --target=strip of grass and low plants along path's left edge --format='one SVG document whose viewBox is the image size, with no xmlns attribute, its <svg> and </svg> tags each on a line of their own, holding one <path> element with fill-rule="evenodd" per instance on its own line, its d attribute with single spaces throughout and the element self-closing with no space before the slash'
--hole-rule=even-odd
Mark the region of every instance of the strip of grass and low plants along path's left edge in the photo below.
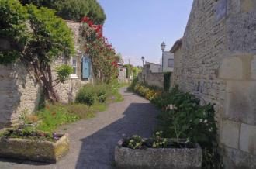
<svg viewBox="0 0 256 169">
<path fill-rule="evenodd" d="M 26 115 L 25 113 L 22 119 L 25 123 L 33 123 L 40 120 L 41 122 L 39 126 L 36 126 L 36 130 L 53 133 L 58 127 L 64 124 L 95 117 L 96 112 L 106 111 L 111 102 L 122 102 L 123 95 L 119 93 L 119 88 L 123 86 L 125 85 L 112 87 L 109 97 L 104 103 L 95 102 L 92 106 L 76 103 L 46 105 L 33 115 Z"/>
</svg>

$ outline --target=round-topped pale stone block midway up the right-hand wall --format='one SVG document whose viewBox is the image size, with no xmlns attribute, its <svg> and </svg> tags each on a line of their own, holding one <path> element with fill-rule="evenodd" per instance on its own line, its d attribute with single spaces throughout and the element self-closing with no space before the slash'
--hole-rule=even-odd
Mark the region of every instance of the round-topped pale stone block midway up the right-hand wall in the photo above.
<svg viewBox="0 0 256 169">
<path fill-rule="evenodd" d="M 228 57 L 220 65 L 219 78 L 241 80 L 243 78 L 243 62 L 239 57 Z"/>
</svg>

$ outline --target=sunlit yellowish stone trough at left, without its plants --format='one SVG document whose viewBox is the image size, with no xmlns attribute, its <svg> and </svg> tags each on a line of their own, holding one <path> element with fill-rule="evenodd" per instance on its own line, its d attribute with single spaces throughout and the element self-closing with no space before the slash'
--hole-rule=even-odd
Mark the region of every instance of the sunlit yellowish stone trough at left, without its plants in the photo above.
<svg viewBox="0 0 256 169">
<path fill-rule="evenodd" d="M 0 130 L 0 133 L 6 129 Z M 56 163 L 69 150 L 67 134 L 57 134 L 56 142 L 0 137 L 0 157 Z"/>
</svg>

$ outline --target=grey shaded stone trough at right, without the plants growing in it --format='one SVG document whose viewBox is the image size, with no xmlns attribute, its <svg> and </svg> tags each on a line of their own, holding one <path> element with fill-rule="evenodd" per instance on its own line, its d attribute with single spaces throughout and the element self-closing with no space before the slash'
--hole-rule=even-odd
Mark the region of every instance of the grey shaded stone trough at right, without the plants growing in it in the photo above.
<svg viewBox="0 0 256 169">
<path fill-rule="evenodd" d="M 202 149 L 195 148 L 147 148 L 133 150 L 122 147 L 123 140 L 115 150 L 117 168 L 147 169 L 198 169 L 202 167 Z"/>
</svg>

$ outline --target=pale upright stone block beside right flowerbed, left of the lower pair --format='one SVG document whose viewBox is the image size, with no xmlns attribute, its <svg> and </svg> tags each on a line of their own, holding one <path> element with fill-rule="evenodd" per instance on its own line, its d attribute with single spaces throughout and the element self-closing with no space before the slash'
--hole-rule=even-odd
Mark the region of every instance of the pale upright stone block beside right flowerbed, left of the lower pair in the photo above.
<svg viewBox="0 0 256 169">
<path fill-rule="evenodd" d="M 221 130 L 221 143 L 228 147 L 238 148 L 240 123 L 224 120 Z"/>
</svg>

